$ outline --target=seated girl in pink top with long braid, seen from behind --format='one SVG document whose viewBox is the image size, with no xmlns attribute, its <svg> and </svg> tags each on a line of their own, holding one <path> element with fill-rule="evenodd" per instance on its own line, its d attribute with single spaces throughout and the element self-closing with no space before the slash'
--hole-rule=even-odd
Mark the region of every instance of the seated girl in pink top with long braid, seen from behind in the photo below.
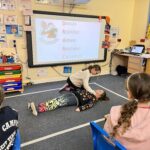
<svg viewBox="0 0 150 150">
<path fill-rule="evenodd" d="M 150 75 L 130 75 L 126 88 L 129 102 L 111 108 L 104 129 L 128 150 L 150 150 Z"/>
</svg>

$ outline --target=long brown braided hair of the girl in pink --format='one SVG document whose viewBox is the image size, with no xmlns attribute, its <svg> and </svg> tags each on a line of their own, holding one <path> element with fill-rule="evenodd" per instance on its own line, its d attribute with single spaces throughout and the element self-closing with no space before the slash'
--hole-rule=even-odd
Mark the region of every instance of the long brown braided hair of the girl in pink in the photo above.
<svg viewBox="0 0 150 150">
<path fill-rule="evenodd" d="M 122 127 L 121 134 L 124 134 L 130 127 L 131 117 L 137 110 L 138 102 L 150 101 L 150 75 L 146 73 L 132 74 L 127 78 L 126 87 L 131 93 L 133 100 L 122 106 L 121 115 L 118 119 L 118 124 L 113 127 L 112 136 L 118 134 L 120 127 Z"/>
</svg>

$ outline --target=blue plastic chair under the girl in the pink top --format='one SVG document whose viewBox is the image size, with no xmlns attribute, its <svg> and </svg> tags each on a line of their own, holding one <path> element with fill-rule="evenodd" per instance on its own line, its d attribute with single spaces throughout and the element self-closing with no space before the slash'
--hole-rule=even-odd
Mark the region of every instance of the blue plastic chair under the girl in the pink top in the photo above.
<svg viewBox="0 0 150 150">
<path fill-rule="evenodd" d="M 117 140 L 110 138 L 109 134 L 95 122 L 90 122 L 90 125 L 94 150 L 126 150 Z"/>
</svg>

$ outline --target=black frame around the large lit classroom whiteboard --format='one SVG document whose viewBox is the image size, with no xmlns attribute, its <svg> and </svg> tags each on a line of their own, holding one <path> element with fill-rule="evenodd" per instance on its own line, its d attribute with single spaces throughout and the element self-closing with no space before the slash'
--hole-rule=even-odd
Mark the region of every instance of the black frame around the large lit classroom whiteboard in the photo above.
<svg viewBox="0 0 150 150">
<path fill-rule="evenodd" d="M 87 18 L 100 18 L 100 16 L 94 16 L 94 15 L 68 14 L 68 13 L 47 12 L 47 11 L 37 11 L 37 10 L 34 10 L 33 14 L 73 16 L 73 17 L 84 17 L 84 18 L 86 18 L 86 17 Z M 105 19 L 106 20 L 106 16 L 101 16 L 101 19 Z M 107 48 L 103 48 L 104 49 L 104 58 L 101 59 L 101 60 L 90 60 L 90 61 L 64 62 L 64 63 L 38 64 L 38 65 L 35 65 L 33 63 L 32 31 L 26 31 L 26 40 L 27 40 L 28 66 L 30 68 L 46 67 L 46 66 L 61 66 L 61 65 L 68 65 L 68 64 L 97 63 L 97 62 L 104 62 L 107 59 Z"/>
</svg>

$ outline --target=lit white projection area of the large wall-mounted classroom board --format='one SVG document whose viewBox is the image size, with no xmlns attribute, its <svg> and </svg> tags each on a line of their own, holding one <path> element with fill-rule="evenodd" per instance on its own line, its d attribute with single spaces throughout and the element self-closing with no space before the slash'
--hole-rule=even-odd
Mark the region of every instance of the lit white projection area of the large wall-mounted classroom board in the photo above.
<svg viewBox="0 0 150 150">
<path fill-rule="evenodd" d="M 104 60 L 104 22 L 98 18 L 34 14 L 33 65 Z"/>
</svg>

